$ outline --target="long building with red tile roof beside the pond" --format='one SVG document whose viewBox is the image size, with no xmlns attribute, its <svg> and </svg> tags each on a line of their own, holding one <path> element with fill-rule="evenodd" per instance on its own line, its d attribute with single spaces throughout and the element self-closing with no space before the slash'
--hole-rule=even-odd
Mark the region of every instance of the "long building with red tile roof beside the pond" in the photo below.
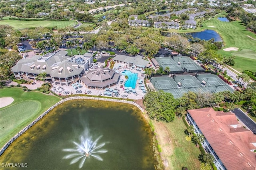
<svg viewBox="0 0 256 170">
<path fill-rule="evenodd" d="M 256 170 L 256 135 L 242 127 L 234 113 L 191 109 L 186 119 L 195 133 L 204 135 L 202 146 L 214 156 L 218 170 Z"/>
</svg>

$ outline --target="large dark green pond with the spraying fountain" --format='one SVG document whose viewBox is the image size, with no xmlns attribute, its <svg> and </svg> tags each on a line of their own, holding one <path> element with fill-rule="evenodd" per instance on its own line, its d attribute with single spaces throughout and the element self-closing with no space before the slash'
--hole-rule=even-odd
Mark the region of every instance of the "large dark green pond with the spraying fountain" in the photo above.
<svg viewBox="0 0 256 170">
<path fill-rule="evenodd" d="M 26 163 L 29 169 L 45 170 L 153 170 L 157 162 L 152 138 L 138 107 L 70 100 L 16 139 L 2 154 L 1 163 Z"/>
</svg>

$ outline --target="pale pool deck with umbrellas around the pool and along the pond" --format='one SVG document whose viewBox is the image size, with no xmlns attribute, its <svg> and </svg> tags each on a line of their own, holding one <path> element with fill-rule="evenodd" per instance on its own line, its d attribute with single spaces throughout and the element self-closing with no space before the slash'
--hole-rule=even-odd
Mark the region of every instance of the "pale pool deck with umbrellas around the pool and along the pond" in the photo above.
<svg viewBox="0 0 256 170">
<path fill-rule="evenodd" d="M 121 67 L 119 67 L 119 65 Z M 144 75 L 143 75 L 144 71 L 138 71 L 138 70 L 136 70 L 136 68 L 135 69 L 134 68 L 133 69 L 128 69 L 128 68 L 124 68 L 124 67 L 126 67 L 126 64 L 115 63 L 115 65 L 114 65 L 114 68 L 120 73 L 120 79 L 119 79 L 119 82 L 117 83 L 117 85 L 110 86 L 110 88 L 112 88 L 112 89 L 117 89 L 119 94 L 120 94 L 119 97 L 115 96 L 115 98 L 129 98 L 129 99 L 134 99 L 134 100 L 142 99 L 145 96 L 146 93 L 143 93 L 142 90 L 139 89 L 138 80 L 142 80 L 143 81 L 142 84 L 144 84 Z M 120 88 L 120 85 L 121 84 L 124 85 L 124 82 L 126 81 L 126 78 L 124 77 L 125 75 L 121 74 L 121 72 L 124 71 L 124 70 L 129 70 L 133 73 L 138 73 L 138 78 L 140 78 L 140 79 L 137 80 L 136 88 L 135 88 L 136 93 L 138 94 L 137 96 L 134 93 L 131 93 L 131 94 L 125 93 L 125 90 L 123 90 L 123 88 Z M 124 82 L 120 82 L 121 79 L 123 79 Z M 85 93 L 87 93 L 87 91 L 91 91 L 91 93 L 88 94 L 88 95 L 92 95 L 92 96 L 101 95 L 101 96 L 106 96 L 106 97 L 112 97 L 112 95 L 111 96 L 103 95 L 104 91 L 106 91 L 105 89 L 102 90 L 102 89 L 98 89 L 98 88 L 96 88 L 96 89 L 86 88 L 86 86 L 84 85 L 83 82 L 80 82 L 80 84 L 82 85 L 82 87 L 78 88 L 76 90 L 81 90 L 82 91 L 81 93 L 77 93 L 76 90 L 71 85 L 70 86 L 60 86 L 59 84 L 57 84 L 57 85 L 53 85 L 53 88 L 51 88 L 51 90 L 53 92 L 55 91 L 56 94 L 60 94 L 62 96 L 65 96 L 65 94 L 64 94 L 65 91 L 70 92 L 68 95 L 70 95 L 71 93 L 72 94 L 85 94 Z M 60 89 L 58 89 L 58 88 L 60 88 Z M 146 90 L 146 87 L 145 87 L 145 90 Z M 128 95 L 128 96 L 127 97 L 122 97 L 122 95 Z"/>
</svg>

